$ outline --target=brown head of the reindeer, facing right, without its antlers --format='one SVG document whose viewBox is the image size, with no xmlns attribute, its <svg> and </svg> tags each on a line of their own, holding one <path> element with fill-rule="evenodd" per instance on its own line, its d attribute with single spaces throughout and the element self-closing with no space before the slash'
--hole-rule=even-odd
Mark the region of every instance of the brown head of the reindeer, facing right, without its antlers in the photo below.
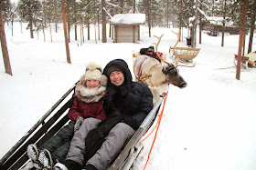
<svg viewBox="0 0 256 170">
<path fill-rule="evenodd" d="M 166 82 L 172 85 L 176 85 L 179 88 L 187 86 L 187 82 L 179 75 L 175 65 L 167 64 L 163 66 L 162 72 L 166 76 Z"/>
</svg>

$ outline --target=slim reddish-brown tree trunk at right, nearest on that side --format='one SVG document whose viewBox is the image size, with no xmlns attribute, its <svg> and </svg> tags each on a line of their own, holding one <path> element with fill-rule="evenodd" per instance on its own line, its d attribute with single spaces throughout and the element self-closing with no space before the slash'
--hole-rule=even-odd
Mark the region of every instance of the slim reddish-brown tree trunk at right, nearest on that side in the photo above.
<svg viewBox="0 0 256 170">
<path fill-rule="evenodd" d="M 238 80 L 240 80 L 241 50 L 242 50 L 242 46 L 243 46 L 247 8 L 248 8 L 248 0 L 243 0 L 241 21 L 240 21 L 240 44 L 239 44 L 239 52 L 238 52 L 238 59 L 237 59 L 238 64 L 237 64 L 237 74 L 236 74 L 236 78 Z"/>
</svg>

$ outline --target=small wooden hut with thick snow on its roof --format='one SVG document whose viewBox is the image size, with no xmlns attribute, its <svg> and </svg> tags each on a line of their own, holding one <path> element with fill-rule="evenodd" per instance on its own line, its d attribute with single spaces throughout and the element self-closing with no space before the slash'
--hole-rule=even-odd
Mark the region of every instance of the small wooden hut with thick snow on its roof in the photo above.
<svg viewBox="0 0 256 170">
<path fill-rule="evenodd" d="M 138 43 L 140 40 L 140 25 L 144 25 L 144 14 L 113 15 L 113 43 Z"/>
</svg>

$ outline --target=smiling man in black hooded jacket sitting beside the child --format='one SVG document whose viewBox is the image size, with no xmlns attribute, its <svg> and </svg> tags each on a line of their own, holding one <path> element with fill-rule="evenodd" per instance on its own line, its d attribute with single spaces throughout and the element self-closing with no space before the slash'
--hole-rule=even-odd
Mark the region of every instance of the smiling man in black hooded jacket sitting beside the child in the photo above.
<svg viewBox="0 0 256 170">
<path fill-rule="evenodd" d="M 108 77 L 108 98 L 104 103 L 107 117 L 121 118 L 112 127 L 101 148 L 88 160 L 85 169 L 107 169 L 154 106 L 150 89 L 144 84 L 133 82 L 129 67 L 123 59 L 112 60 L 105 66 L 103 75 Z"/>
</svg>

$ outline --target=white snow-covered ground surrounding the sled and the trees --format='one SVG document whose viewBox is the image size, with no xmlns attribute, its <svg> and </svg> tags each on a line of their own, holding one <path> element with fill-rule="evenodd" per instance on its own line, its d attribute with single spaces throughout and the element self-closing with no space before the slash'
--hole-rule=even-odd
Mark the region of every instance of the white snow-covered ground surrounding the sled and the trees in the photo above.
<svg viewBox="0 0 256 170">
<path fill-rule="evenodd" d="M 13 76 L 5 74 L 1 59 L 0 157 L 84 74 L 90 61 L 104 67 L 112 59 L 123 58 L 132 70 L 132 50 L 157 41 L 154 36 L 148 37 L 145 27 L 139 44 L 113 44 L 110 38 L 106 44 L 99 40 L 96 44 L 91 27 L 91 40 L 80 45 L 80 40 L 73 40 L 72 32 L 70 65 L 62 31 L 53 32 L 51 43 L 49 31 L 46 42 L 42 33 L 39 39 L 36 33 L 30 39 L 26 26 L 23 25 L 21 33 L 17 23 L 11 36 L 10 26 L 5 25 Z M 162 34 L 158 50 L 168 53 L 169 46 L 176 44 L 176 35 L 171 29 L 152 29 L 152 35 Z M 254 38 L 253 51 L 255 41 Z M 225 46 L 220 45 L 221 34 L 217 37 L 203 34 L 202 44 L 197 44 L 201 50 L 194 59 L 196 66 L 179 67 L 187 88 L 170 85 L 163 120 L 146 169 L 256 169 L 256 68 L 248 71 L 242 67 L 237 80 L 233 58 L 238 53 L 239 35 L 225 35 Z M 186 39 L 178 46 L 186 46 Z M 144 150 L 133 169 L 144 168 L 153 138 L 151 135 L 144 141 Z"/>
</svg>

